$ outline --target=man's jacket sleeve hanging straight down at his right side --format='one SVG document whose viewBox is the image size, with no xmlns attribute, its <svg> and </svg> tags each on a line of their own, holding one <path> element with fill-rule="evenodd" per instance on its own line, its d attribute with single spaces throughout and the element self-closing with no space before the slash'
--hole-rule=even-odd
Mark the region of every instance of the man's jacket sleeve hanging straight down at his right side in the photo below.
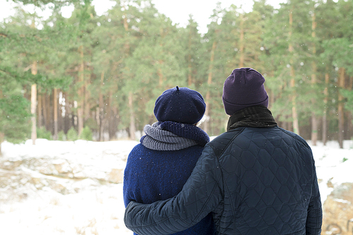
<svg viewBox="0 0 353 235">
<path fill-rule="evenodd" d="M 323 210 L 321 207 L 320 192 L 318 190 L 315 162 L 313 160 L 313 186 L 311 200 L 308 207 L 308 217 L 306 218 L 306 234 L 321 234 L 322 223 Z"/>
</svg>

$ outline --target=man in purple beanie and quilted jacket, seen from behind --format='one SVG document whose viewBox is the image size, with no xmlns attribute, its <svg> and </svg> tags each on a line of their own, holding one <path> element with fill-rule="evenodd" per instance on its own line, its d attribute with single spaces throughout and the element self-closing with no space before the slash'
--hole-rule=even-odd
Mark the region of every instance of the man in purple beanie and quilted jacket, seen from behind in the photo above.
<svg viewBox="0 0 353 235">
<path fill-rule="evenodd" d="M 149 205 L 131 202 L 137 234 L 172 234 L 213 212 L 217 234 L 321 234 L 322 209 L 309 145 L 277 126 L 265 78 L 237 68 L 225 80 L 227 132 L 205 145 L 182 191 Z"/>
</svg>

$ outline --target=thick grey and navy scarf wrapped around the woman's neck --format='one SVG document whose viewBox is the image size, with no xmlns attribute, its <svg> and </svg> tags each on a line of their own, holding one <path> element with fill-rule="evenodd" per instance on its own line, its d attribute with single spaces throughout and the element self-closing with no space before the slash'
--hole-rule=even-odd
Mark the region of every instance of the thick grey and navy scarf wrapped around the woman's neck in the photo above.
<svg viewBox="0 0 353 235">
<path fill-rule="evenodd" d="M 182 150 L 194 145 L 205 146 L 210 138 L 205 131 L 191 124 L 160 121 L 143 128 L 146 135 L 140 143 L 151 150 Z"/>
</svg>

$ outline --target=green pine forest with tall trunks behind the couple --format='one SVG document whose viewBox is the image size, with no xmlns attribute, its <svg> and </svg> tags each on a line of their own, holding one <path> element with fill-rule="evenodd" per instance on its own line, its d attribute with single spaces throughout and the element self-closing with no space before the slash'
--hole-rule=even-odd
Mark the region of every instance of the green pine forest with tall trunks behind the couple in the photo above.
<svg viewBox="0 0 353 235">
<path fill-rule="evenodd" d="M 177 85 L 201 92 L 201 128 L 219 135 L 223 83 L 239 67 L 263 74 L 280 127 L 312 145 L 353 136 L 353 0 L 257 0 L 250 12 L 217 4 L 205 34 L 192 15 L 181 27 L 151 0 L 116 0 L 102 16 L 90 0 L 13 1 L 52 16 L 18 7 L 0 22 L 0 143 L 136 140 Z"/>
</svg>

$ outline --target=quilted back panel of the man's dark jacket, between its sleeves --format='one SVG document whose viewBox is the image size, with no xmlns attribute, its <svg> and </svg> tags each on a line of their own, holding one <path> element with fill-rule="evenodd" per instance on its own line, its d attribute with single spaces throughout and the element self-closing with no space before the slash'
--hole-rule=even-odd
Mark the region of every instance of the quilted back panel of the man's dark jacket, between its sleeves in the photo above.
<svg viewBox="0 0 353 235">
<path fill-rule="evenodd" d="M 231 234 L 267 234 L 268 229 L 270 234 L 305 234 L 299 230 L 305 227 L 303 212 L 311 198 L 311 151 L 303 140 L 271 130 L 245 128 L 219 156 L 227 173 L 226 200 L 236 211 Z"/>
</svg>

